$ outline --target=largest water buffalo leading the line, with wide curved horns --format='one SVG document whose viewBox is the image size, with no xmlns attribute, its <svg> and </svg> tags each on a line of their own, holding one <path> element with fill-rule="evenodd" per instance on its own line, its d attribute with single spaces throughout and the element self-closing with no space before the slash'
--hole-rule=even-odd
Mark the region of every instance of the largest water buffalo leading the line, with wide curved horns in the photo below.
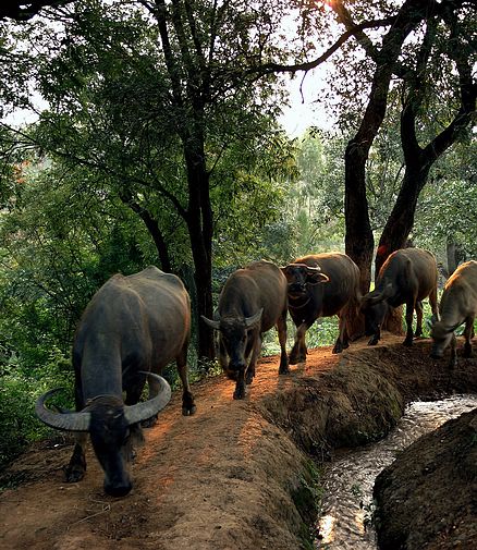
<svg viewBox="0 0 477 550">
<path fill-rule="evenodd" d="M 82 479 L 89 432 L 105 472 L 105 490 L 127 494 L 132 442 L 142 440 L 139 423 L 154 421 L 168 403 L 170 388 L 157 376 L 175 359 L 183 384 L 183 414 L 195 412 L 187 380 L 191 308 L 181 280 L 148 267 L 129 277 L 113 276 L 95 294 L 78 325 L 73 345 L 76 413 L 53 413 L 41 396 L 38 417 L 47 425 L 78 432 L 66 480 Z M 139 403 L 149 372 L 149 400 Z M 150 374 L 152 372 L 152 374 Z M 123 402 L 123 391 L 125 401 Z"/>
</svg>

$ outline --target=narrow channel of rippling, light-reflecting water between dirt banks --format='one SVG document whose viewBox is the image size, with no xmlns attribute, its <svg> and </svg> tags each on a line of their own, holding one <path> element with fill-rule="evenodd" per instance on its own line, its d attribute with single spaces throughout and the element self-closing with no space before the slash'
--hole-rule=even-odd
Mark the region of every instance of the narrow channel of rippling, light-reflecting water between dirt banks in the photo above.
<svg viewBox="0 0 477 550">
<path fill-rule="evenodd" d="M 372 550 L 375 530 L 372 486 L 396 454 L 447 420 L 477 407 L 477 395 L 453 395 L 440 401 L 411 403 L 391 433 L 377 443 L 335 455 L 323 478 L 325 496 L 318 520 L 316 548 Z"/>
</svg>

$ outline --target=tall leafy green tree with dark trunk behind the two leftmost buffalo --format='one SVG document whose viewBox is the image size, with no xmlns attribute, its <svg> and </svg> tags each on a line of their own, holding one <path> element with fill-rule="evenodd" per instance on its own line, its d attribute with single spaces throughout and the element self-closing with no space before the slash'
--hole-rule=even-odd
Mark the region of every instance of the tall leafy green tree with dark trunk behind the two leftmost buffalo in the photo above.
<svg viewBox="0 0 477 550">
<path fill-rule="evenodd" d="M 121 198 L 154 232 L 169 267 L 162 212 L 147 201 L 161 197 L 169 218 L 179 217 L 187 228 L 198 314 L 207 317 L 215 172 L 232 144 L 254 149 L 276 132 L 270 121 L 279 106 L 271 99 L 279 81 L 268 75 L 258 85 L 257 73 L 249 72 L 250 65 L 285 56 L 277 34 L 280 13 L 268 0 L 261 8 L 77 0 L 62 10 L 61 29 L 46 26 L 35 41 L 47 50 L 38 58 L 38 80 L 51 105 L 37 144 L 114 181 Z M 47 33 L 56 36 L 45 44 Z M 212 334 L 203 323 L 198 328 L 199 353 L 210 357 Z"/>
</svg>

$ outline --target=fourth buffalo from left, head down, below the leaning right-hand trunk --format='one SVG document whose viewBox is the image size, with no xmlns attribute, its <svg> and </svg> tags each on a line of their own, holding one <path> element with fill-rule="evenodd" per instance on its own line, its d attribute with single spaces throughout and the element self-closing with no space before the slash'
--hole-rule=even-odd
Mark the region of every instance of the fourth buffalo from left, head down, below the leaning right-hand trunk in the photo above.
<svg viewBox="0 0 477 550">
<path fill-rule="evenodd" d="M 413 344 L 413 315 L 416 310 L 415 337 L 423 334 L 423 303 L 429 296 L 432 321 L 438 319 L 436 258 L 428 250 L 402 248 L 389 255 L 379 270 L 376 288 L 363 296 L 360 310 L 365 316 L 369 345 L 381 338 L 381 326 L 390 307 L 406 305 L 407 332 L 404 345 Z"/>
</svg>

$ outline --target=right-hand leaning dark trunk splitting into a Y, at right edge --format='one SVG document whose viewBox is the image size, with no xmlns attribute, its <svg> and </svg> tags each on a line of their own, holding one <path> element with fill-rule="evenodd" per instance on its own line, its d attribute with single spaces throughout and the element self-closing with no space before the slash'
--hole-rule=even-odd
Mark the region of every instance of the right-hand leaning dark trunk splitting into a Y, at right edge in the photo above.
<svg viewBox="0 0 477 550">
<path fill-rule="evenodd" d="M 444 27 L 444 36 L 439 35 L 439 25 Z M 470 36 L 468 20 L 462 20 L 456 11 L 444 11 L 440 20 L 428 22 L 413 71 L 406 74 L 401 114 L 405 173 L 379 241 L 377 271 L 391 252 L 405 245 L 414 225 L 417 199 L 432 166 L 465 133 L 475 115 L 477 83 L 473 75 L 473 58 L 476 48 Z M 443 64 L 449 65 L 448 75 L 442 70 Z M 449 98 L 452 110 L 439 112 L 439 103 L 432 97 L 436 75 L 448 81 L 454 90 Z M 428 143 L 423 146 L 419 140 Z"/>
</svg>

